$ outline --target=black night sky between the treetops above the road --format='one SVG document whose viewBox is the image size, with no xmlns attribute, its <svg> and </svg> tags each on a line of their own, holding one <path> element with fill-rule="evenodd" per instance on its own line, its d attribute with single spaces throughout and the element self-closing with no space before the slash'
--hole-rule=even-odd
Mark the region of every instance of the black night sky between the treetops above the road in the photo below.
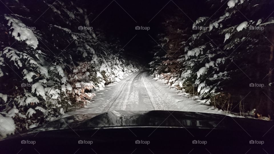
<svg viewBox="0 0 274 154">
<path fill-rule="evenodd" d="M 122 47 L 136 35 L 136 37 L 124 47 L 124 54 L 144 63 L 148 63 L 152 60 L 153 55 L 151 55 L 149 51 L 156 45 L 150 36 L 156 39 L 157 34 L 164 32 L 161 24 L 165 21 L 163 15 L 171 14 L 180 7 L 180 9 L 187 13 L 193 21 L 196 21 L 197 11 L 202 9 L 202 5 L 198 5 L 199 1 L 194 3 L 193 1 L 174 0 L 178 7 L 172 1 L 169 2 L 169 0 L 116 0 L 118 4 L 115 1 L 111 2 L 112 0 L 89 1 L 85 5 L 88 12 L 92 12 L 93 14 L 90 22 L 101 13 L 92 23 L 90 23 L 90 26 L 92 26 L 95 31 L 96 29 L 102 29 L 106 34 L 106 37 L 118 37 Z M 164 9 L 162 9 L 163 7 Z M 190 8 L 195 8 L 195 10 Z M 150 30 L 135 30 L 136 26 L 150 27 Z"/>
</svg>

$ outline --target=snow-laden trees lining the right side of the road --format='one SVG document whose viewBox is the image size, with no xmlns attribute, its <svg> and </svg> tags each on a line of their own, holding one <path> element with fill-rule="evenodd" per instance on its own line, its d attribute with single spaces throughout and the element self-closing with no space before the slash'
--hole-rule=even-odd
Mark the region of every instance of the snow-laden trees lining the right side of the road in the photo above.
<svg viewBox="0 0 274 154">
<path fill-rule="evenodd" d="M 273 2 L 209 0 L 207 4 L 208 10 L 218 10 L 212 17 L 201 12 L 193 23 L 178 10 L 167 18 L 166 33 L 159 35 L 160 46 L 150 63 L 154 76 L 210 100 L 217 108 L 236 112 L 255 108 L 273 116 L 269 98 L 273 98 L 274 19 L 269 16 L 272 11 L 265 11 Z"/>
</svg>

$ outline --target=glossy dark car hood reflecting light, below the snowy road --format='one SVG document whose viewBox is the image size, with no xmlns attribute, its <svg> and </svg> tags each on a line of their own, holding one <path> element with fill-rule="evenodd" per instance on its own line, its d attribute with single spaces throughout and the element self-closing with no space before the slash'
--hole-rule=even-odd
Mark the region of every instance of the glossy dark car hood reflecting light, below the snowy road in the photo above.
<svg viewBox="0 0 274 154">
<path fill-rule="evenodd" d="M 264 127 L 262 127 L 264 126 Z M 244 129 L 267 131 L 272 121 L 237 118 L 220 114 L 181 111 L 109 111 L 96 114 L 78 114 L 34 127 L 21 135 L 62 129 L 88 130 L 121 127 L 182 127 L 194 129 Z M 16 136 L 16 135 L 12 135 Z M 10 137 L 12 137 L 10 136 Z"/>
</svg>

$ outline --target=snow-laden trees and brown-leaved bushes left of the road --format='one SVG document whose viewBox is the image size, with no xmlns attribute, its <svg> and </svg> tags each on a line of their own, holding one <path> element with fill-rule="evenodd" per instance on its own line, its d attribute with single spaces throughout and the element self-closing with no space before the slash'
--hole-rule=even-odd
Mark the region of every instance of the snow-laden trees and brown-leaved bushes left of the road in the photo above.
<svg viewBox="0 0 274 154">
<path fill-rule="evenodd" d="M 114 54 L 119 44 L 78 28 L 89 26 L 85 9 L 53 2 L 3 1 L 14 14 L 0 16 L 0 137 L 90 104 L 94 90 L 138 71 Z"/>
</svg>

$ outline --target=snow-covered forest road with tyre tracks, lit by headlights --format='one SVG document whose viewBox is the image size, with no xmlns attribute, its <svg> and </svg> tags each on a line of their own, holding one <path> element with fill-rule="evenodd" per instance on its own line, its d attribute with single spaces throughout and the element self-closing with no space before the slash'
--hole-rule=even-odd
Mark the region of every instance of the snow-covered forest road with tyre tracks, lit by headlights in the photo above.
<svg viewBox="0 0 274 154">
<path fill-rule="evenodd" d="M 186 97 L 182 92 L 154 80 L 148 71 L 135 72 L 120 82 L 100 90 L 86 108 L 79 108 L 68 115 L 102 113 L 110 110 L 172 110 L 226 114 L 211 106 Z"/>
</svg>

